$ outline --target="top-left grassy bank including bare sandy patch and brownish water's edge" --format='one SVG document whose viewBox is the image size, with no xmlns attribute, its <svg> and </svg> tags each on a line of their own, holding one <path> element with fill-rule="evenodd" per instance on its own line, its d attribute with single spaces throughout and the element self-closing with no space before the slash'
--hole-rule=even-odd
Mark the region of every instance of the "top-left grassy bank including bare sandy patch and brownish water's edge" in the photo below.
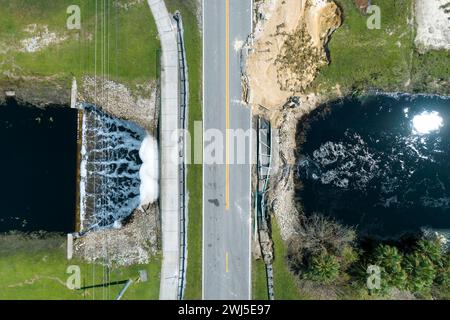
<svg viewBox="0 0 450 320">
<path fill-rule="evenodd" d="M 78 5 L 81 29 L 69 30 Z M 68 103 L 71 78 L 104 76 L 140 93 L 156 78 L 160 47 L 146 1 L 0 0 L 0 90 L 33 102 Z M 143 32 L 145 30 L 145 32 Z"/>
</svg>

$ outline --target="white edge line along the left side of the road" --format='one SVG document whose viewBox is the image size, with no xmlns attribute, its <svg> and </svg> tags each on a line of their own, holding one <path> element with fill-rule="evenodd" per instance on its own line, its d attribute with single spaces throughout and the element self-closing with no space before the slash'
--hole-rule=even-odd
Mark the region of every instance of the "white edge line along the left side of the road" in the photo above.
<svg viewBox="0 0 450 320">
<path fill-rule="evenodd" d="M 253 0 L 252 0 L 253 1 Z M 202 0 L 202 300 L 205 300 L 205 0 Z"/>
</svg>

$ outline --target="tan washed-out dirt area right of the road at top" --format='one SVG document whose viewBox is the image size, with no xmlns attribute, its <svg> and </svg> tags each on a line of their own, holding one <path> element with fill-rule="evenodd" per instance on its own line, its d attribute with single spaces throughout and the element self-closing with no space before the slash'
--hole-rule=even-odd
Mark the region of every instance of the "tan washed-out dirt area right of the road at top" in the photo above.
<svg viewBox="0 0 450 320">
<path fill-rule="evenodd" d="M 256 17 L 247 60 L 249 102 L 280 108 L 328 63 L 325 45 L 341 24 L 341 12 L 328 0 L 269 0 L 257 3 Z"/>
</svg>

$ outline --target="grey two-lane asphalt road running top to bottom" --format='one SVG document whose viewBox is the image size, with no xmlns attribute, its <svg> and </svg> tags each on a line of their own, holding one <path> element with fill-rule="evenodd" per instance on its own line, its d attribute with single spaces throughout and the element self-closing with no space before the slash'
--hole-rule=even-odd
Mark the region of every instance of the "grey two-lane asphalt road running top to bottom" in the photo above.
<svg viewBox="0 0 450 320">
<path fill-rule="evenodd" d="M 248 139 L 245 164 L 235 164 L 232 136 L 229 143 L 225 136 L 227 129 L 251 127 L 250 110 L 240 102 L 241 55 L 235 49 L 251 33 L 251 0 L 206 0 L 203 10 L 204 130 L 224 134 L 223 163 L 203 166 L 203 298 L 250 299 L 251 145 Z M 206 134 L 205 151 L 209 144 Z"/>
</svg>

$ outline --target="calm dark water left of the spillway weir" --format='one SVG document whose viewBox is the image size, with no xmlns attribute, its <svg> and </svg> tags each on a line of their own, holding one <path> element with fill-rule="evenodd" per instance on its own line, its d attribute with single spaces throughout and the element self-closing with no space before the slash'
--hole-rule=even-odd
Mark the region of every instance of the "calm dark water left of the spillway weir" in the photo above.
<svg viewBox="0 0 450 320">
<path fill-rule="evenodd" d="M 77 112 L 0 105 L 0 232 L 73 232 Z"/>
</svg>

